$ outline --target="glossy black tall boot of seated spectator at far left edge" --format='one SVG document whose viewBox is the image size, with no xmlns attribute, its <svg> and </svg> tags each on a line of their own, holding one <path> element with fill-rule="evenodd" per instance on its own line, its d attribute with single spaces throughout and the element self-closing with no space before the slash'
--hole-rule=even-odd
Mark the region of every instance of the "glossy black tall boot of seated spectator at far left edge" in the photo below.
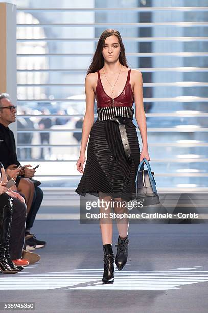
<svg viewBox="0 0 208 313">
<path fill-rule="evenodd" d="M 9 232 L 10 219 L 12 214 L 12 198 L 7 194 L 2 194 L 1 197 L 1 208 L 0 208 L 0 270 L 4 274 L 16 274 L 19 269 L 11 269 L 7 261 L 6 252 L 6 241 Z"/>
</svg>

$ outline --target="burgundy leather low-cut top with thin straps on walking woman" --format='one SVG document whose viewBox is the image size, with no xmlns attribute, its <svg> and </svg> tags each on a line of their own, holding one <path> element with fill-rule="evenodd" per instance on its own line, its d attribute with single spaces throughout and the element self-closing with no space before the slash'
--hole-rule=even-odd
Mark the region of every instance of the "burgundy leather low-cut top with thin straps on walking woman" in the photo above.
<svg viewBox="0 0 208 313">
<path fill-rule="evenodd" d="M 95 91 L 95 98 L 97 101 L 97 107 L 109 107 L 109 106 L 132 106 L 134 102 L 134 94 L 131 89 L 130 84 L 130 73 L 131 69 L 128 71 L 128 76 L 126 80 L 126 84 L 124 86 L 123 91 L 117 97 L 111 98 L 108 96 L 103 88 L 101 79 L 100 79 L 100 70 L 98 72 L 98 81 Z"/>
</svg>

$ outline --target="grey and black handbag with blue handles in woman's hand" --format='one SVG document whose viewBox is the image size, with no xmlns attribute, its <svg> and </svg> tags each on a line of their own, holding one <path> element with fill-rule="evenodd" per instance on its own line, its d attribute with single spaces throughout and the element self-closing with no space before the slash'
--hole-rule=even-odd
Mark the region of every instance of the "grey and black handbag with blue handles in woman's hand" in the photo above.
<svg viewBox="0 0 208 313">
<path fill-rule="evenodd" d="M 144 170 L 144 162 L 147 170 Z M 142 201 L 143 207 L 160 203 L 153 175 L 149 162 L 144 158 L 138 166 L 136 175 L 136 200 Z"/>
</svg>

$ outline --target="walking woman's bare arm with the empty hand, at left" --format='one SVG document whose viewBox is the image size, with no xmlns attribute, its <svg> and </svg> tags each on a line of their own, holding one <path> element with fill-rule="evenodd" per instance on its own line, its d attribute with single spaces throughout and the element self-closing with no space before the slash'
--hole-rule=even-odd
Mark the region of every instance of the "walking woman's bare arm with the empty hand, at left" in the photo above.
<svg viewBox="0 0 208 313">
<path fill-rule="evenodd" d="M 94 123 L 94 102 L 95 102 L 95 94 L 93 90 L 94 79 L 95 76 L 92 74 L 88 74 L 85 78 L 86 110 L 82 126 L 80 156 L 77 161 L 77 170 L 80 173 L 83 173 L 83 164 L 85 162 L 85 151 L 91 127 L 93 126 Z"/>
</svg>

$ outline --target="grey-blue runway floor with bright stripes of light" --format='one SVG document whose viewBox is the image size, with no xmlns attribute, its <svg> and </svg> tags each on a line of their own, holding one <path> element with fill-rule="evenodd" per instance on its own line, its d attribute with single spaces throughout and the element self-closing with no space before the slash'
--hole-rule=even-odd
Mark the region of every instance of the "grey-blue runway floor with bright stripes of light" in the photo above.
<svg viewBox="0 0 208 313">
<path fill-rule="evenodd" d="M 41 260 L 16 275 L 0 274 L 1 305 L 35 302 L 38 313 L 208 310 L 206 224 L 131 224 L 128 262 L 115 270 L 112 285 L 102 284 L 99 224 L 41 220 L 33 232 L 47 241 L 45 248 L 34 250 Z M 117 238 L 114 225 L 113 246 Z"/>
</svg>

